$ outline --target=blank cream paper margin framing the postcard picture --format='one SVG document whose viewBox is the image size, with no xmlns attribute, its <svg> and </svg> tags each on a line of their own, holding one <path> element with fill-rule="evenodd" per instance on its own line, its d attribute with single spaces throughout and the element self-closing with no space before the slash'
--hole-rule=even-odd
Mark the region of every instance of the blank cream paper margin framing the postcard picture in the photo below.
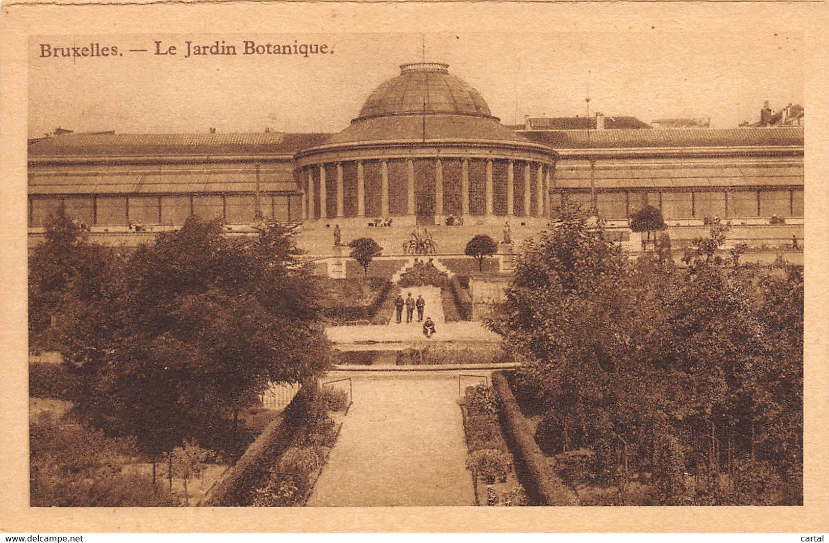
<svg viewBox="0 0 829 543">
<path fill-rule="evenodd" d="M 4 2 L 0 11 L 0 531 L 829 531 L 827 29 L 825 2 Z M 745 31 L 806 36 L 806 371 L 802 507 L 32 508 L 27 446 L 29 36 L 273 32 Z M 655 51 L 655 54 L 658 54 Z M 785 68 L 768 67 L 769 77 Z M 715 67 L 712 67 L 715 69 Z M 723 77 L 724 85 L 735 85 Z"/>
</svg>

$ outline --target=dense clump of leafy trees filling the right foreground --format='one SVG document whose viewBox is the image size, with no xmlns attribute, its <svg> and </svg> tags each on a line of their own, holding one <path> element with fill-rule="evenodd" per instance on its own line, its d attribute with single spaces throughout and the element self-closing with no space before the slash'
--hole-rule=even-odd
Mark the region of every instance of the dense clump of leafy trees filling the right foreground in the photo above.
<svg viewBox="0 0 829 543">
<path fill-rule="evenodd" d="M 526 245 L 489 322 L 522 362 L 512 385 L 543 415 L 536 439 L 587 449 L 590 478 L 618 484 L 620 503 L 623 450 L 652 474 L 652 503 L 802 501 L 802 274 L 720 268 L 725 231 L 696 240 L 679 269 L 630 259 L 567 209 Z M 740 462 L 764 463 L 768 491 L 723 473 Z"/>
</svg>

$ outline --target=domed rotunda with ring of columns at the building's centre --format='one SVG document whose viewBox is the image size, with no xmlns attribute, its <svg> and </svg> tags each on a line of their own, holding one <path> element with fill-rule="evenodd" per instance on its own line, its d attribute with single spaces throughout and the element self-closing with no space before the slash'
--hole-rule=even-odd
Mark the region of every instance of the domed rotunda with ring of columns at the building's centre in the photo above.
<svg viewBox="0 0 829 543">
<path fill-rule="evenodd" d="M 545 217 L 555 153 L 504 127 L 448 65 L 400 65 L 351 124 L 296 155 L 306 225 Z"/>
</svg>

